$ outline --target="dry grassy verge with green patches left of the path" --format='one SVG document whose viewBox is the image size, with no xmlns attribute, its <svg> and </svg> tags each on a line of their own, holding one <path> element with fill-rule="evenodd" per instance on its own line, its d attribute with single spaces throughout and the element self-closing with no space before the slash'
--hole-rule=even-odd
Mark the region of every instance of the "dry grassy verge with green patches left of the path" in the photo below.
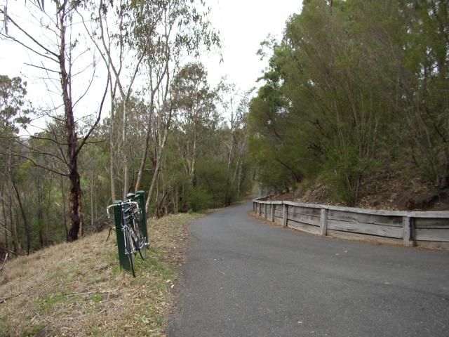
<svg viewBox="0 0 449 337">
<path fill-rule="evenodd" d="M 147 260 L 135 259 L 135 279 L 119 269 L 107 231 L 8 262 L 0 276 L 0 336 L 163 336 L 188 225 L 198 217 L 152 220 L 152 249 Z"/>
</svg>

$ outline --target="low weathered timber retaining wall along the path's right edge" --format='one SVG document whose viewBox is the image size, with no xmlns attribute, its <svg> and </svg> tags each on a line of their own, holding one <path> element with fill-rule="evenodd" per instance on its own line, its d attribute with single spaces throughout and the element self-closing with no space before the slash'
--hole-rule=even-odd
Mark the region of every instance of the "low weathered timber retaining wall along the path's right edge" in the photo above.
<svg viewBox="0 0 449 337">
<path fill-rule="evenodd" d="M 258 216 L 312 234 L 449 249 L 449 211 L 378 211 L 253 199 Z"/>
</svg>

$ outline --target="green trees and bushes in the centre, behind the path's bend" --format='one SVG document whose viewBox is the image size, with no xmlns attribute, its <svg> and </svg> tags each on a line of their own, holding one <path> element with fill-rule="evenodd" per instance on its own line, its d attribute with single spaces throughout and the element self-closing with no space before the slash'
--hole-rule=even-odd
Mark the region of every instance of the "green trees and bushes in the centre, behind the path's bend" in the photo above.
<svg viewBox="0 0 449 337">
<path fill-rule="evenodd" d="M 170 191 L 165 193 L 165 200 L 173 200 L 168 205 L 173 211 L 227 206 L 248 190 L 248 98 L 243 95 L 233 105 L 234 90 L 225 83 L 210 88 L 200 63 L 188 63 L 177 73 L 173 81 L 173 136 L 168 141 L 166 168 L 161 173 L 164 188 Z M 227 110 L 232 117 L 225 122 L 220 110 Z M 156 211 L 157 207 L 155 201 Z"/>
</svg>

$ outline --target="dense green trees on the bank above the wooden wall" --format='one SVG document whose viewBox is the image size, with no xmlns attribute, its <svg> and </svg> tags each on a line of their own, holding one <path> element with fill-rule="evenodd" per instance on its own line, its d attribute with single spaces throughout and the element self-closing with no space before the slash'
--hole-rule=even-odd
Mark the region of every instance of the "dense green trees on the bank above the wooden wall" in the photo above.
<svg viewBox="0 0 449 337">
<path fill-rule="evenodd" d="M 448 187 L 448 24 L 441 1 L 304 2 L 250 107 L 260 183 L 320 174 L 356 204 L 363 178 L 396 160 Z"/>
</svg>

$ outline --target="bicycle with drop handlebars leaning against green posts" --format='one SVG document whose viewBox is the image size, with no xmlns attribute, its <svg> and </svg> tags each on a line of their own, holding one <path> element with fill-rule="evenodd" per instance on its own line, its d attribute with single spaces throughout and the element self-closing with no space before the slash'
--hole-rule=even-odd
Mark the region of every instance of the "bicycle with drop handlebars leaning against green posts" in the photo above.
<svg viewBox="0 0 449 337">
<path fill-rule="evenodd" d="M 132 201 L 135 194 L 126 194 L 128 198 L 117 204 L 107 206 L 107 216 L 109 217 L 109 209 L 119 206 L 121 208 L 121 231 L 123 232 L 123 244 L 125 246 L 125 255 L 128 256 L 133 277 L 135 277 L 135 267 L 133 256 L 139 252 L 142 260 L 148 256 L 149 240 L 143 235 L 142 226 L 140 223 L 140 209 L 136 201 Z"/>
</svg>

